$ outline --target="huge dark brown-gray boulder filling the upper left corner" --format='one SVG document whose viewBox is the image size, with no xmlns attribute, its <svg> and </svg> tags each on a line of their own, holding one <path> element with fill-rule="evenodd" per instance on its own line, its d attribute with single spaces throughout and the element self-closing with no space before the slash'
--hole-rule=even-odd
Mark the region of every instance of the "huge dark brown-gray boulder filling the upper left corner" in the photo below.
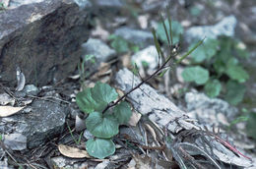
<svg viewBox="0 0 256 169">
<path fill-rule="evenodd" d="M 87 15 L 72 0 L 44 0 L 0 13 L 0 81 L 15 85 L 17 67 L 29 84 L 67 77 L 88 39 Z"/>
</svg>

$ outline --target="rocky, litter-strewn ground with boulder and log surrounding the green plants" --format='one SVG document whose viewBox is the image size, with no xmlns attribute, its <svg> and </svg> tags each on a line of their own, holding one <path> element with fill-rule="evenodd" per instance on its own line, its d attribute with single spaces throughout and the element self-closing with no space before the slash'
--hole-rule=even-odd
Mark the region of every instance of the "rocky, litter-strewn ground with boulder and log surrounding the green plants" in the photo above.
<svg viewBox="0 0 256 169">
<path fill-rule="evenodd" d="M 193 148 L 186 149 L 193 159 L 179 149 L 184 142 L 203 147 L 204 141 L 213 146 L 221 168 L 256 167 L 255 141 L 247 136 L 246 122 L 230 128 L 242 109 L 256 112 L 254 0 L 1 2 L 0 168 L 179 168 L 177 156 L 182 155 L 192 163 L 203 161 L 196 168 L 218 168 Z M 184 28 L 181 54 L 192 39 L 204 36 L 224 34 L 244 42 L 250 52 L 241 61 L 250 74 L 245 101 L 235 107 L 222 95 L 209 98 L 202 88 L 184 83 L 180 70 L 187 66 L 185 60 L 128 95 L 133 106 L 129 125 L 121 126 L 114 138 L 115 153 L 96 159 L 86 151 L 85 142 L 92 135 L 76 94 L 98 81 L 124 94 L 140 82 L 129 71 L 132 62 L 142 79 L 156 71 L 158 52 L 151 28 L 158 27 L 160 14 L 166 16 L 166 7 Z M 242 155 L 217 137 L 202 141 L 210 135 L 204 128 L 215 127 L 221 129 L 218 137 Z M 172 143 L 166 142 L 166 133 Z"/>
</svg>

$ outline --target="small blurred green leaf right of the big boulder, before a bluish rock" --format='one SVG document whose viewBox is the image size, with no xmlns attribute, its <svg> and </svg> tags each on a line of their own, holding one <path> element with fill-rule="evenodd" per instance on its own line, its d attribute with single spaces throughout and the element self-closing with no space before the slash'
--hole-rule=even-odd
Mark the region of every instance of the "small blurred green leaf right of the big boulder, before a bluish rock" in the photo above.
<svg viewBox="0 0 256 169">
<path fill-rule="evenodd" d="M 129 43 L 123 37 L 112 34 L 108 37 L 108 39 L 112 40 L 110 46 L 114 48 L 117 53 L 129 51 Z"/>
</svg>

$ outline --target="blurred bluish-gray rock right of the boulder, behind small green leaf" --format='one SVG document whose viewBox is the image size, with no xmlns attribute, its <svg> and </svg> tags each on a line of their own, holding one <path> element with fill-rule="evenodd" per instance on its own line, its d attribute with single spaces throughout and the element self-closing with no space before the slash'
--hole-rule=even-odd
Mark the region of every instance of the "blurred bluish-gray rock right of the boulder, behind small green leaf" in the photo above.
<svg viewBox="0 0 256 169">
<path fill-rule="evenodd" d="M 114 31 L 115 35 L 119 35 L 124 39 L 139 45 L 141 48 L 154 44 L 154 38 L 150 31 L 134 29 L 134 28 L 117 28 Z"/>
</svg>

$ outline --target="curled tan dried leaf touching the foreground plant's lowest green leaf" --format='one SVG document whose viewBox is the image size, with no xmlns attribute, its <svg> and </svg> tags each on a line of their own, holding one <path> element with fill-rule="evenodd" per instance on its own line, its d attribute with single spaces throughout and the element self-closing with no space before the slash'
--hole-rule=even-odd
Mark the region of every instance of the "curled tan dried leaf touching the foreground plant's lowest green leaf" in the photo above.
<svg viewBox="0 0 256 169">
<path fill-rule="evenodd" d="M 86 150 L 64 144 L 59 144 L 58 149 L 62 155 L 71 158 L 91 158 Z"/>
</svg>

